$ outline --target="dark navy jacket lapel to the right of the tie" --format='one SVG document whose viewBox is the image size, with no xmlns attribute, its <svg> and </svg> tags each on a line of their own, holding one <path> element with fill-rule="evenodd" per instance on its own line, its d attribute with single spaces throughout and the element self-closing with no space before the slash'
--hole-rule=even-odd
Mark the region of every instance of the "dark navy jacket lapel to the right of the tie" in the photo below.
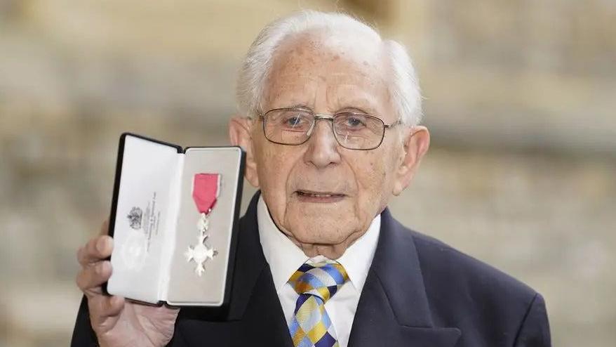
<svg viewBox="0 0 616 347">
<path fill-rule="evenodd" d="M 453 347 L 460 335 L 454 327 L 434 327 L 413 236 L 385 209 L 349 347 Z"/>
</svg>

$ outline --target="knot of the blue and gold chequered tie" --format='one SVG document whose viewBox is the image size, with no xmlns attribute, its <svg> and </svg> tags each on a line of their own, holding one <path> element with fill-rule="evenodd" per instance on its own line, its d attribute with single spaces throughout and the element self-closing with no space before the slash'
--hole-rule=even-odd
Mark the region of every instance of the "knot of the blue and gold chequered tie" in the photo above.
<svg viewBox="0 0 616 347">
<path fill-rule="evenodd" d="M 319 296 L 328 301 L 349 280 L 347 271 L 340 263 L 303 263 L 289 279 L 297 294 Z"/>
</svg>

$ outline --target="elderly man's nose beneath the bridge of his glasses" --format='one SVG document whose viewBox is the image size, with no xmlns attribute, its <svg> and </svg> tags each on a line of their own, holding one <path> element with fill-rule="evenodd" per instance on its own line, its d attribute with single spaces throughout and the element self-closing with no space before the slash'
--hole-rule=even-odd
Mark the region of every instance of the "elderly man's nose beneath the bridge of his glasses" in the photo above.
<svg viewBox="0 0 616 347">
<path fill-rule="evenodd" d="M 340 162 L 338 142 L 332 131 L 332 122 L 326 119 L 315 120 L 312 134 L 308 140 L 308 149 L 304 154 L 306 162 L 316 167 L 326 167 Z"/>
</svg>

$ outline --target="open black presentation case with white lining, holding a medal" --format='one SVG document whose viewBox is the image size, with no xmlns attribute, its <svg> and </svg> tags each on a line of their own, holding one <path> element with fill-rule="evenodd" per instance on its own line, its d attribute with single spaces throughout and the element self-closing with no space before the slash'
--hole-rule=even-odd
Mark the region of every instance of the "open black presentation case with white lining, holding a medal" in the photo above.
<svg viewBox="0 0 616 347">
<path fill-rule="evenodd" d="M 229 299 L 245 155 L 120 137 L 107 294 L 170 306 Z"/>
</svg>

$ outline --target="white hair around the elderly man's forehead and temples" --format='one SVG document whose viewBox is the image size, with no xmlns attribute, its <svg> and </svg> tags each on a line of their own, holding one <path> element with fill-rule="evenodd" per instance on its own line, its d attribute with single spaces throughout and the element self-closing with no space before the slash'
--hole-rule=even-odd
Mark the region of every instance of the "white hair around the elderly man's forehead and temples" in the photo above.
<svg viewBox="0 0 616 347">
<path fill-rule="evenodd" d="M 293 34 L 323 29 L 334 34 L 336 32 L 347 34 L 351 31 L 354 34 L 375 37 L 381 42 L 391 71 L 389 94 L 399 112 L 399 119 L 408 126 L 420 123 L 422 96 L 415 68 L 404 46 L 393 40 L 383 40 L 373 27 L 350 15 L 311 10 L 300 11 L 275 20 L 263 28 L 250 45 L 237 82 L 236 96 L 242 114 L 255 117 L 264 111 L 261 110 L 261 100 L 265 84 L 272 68 L 274 53 L 282 41 Z"/>
</svg>

